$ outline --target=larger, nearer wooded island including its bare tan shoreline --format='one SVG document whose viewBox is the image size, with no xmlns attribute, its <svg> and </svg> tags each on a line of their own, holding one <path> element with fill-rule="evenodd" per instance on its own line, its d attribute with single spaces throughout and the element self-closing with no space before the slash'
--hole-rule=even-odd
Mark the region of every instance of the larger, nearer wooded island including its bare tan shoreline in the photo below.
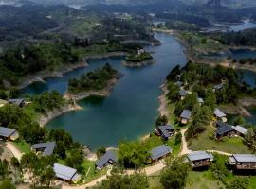
<svg viewBox="0 0 256 189">
<path fill-rule="evenodd" d="M 71 78 L 68 82 L 68 98 L 79 100 L 90 95 L 106 96 L 110 94 L 121 74 L 106 63 L 101 69 L 83 74 L 80 78 Z"/>
</svg>

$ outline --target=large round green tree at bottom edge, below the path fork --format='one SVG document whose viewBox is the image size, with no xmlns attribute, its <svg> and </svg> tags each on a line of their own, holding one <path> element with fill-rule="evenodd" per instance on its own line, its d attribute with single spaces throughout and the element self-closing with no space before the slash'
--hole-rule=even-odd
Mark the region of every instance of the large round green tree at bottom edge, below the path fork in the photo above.
<svg viewBox="0 0 256 189">
<path fill-rule="evenodd" d="M 190 166 L 182 158 L 170 159 L 161 171 L 160 182 L 166 189 L 181 189 L 186 185 Z"/>
</svg>

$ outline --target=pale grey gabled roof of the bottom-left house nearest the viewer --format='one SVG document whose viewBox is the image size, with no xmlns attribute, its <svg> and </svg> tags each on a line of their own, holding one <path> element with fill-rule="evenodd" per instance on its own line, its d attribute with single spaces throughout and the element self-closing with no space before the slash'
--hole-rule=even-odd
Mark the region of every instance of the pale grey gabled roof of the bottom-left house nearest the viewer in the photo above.
<svg viewBox="0 0 256 189">
<path fill-rule="evenodd" d="M 54 163 L 53 170 L 56 177 L 63 180 L 73 180 L 77 173 L 77 169 L 59 163 Z"/>
</svg>

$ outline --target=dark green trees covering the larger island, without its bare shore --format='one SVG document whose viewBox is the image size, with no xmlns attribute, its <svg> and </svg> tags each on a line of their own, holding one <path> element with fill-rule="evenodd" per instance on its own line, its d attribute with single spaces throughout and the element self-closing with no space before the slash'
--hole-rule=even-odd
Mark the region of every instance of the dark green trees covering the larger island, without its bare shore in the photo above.
<svg viewBox="0 0 256 189">
<path fill-rule="evenodd" d="M 118 71 L 107 63 L 101 69 L 82 75 L 79 79 L 70 79 L 68 82 L 68 90 L 71 93 L 103 90 L 107 87 L 109 81 L 116 77 L 118 77 Z"/>
</svg>

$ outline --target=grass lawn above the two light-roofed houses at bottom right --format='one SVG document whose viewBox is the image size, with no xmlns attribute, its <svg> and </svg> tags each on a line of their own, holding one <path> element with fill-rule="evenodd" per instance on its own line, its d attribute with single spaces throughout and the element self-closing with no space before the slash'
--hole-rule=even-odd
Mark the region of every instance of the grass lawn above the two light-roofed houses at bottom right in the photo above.
<svg viewBox="0 0 256 189">
<path fill-rule="evenodd" d="M 208 127 L 203 133 L 201 133 L 196 139 L 189 141 L 189 148 L 193 151 L 196 150 L 219 150 L 228 152 L 231 154 L 234 153 L 252 153 L 250 149 L 243 143 L 242 138 L 233 137 L 228 138 L 224 137 L 221 141 L 216 141 L 210 139 L 214 132 L 214 128 Z"/>
</svg>

